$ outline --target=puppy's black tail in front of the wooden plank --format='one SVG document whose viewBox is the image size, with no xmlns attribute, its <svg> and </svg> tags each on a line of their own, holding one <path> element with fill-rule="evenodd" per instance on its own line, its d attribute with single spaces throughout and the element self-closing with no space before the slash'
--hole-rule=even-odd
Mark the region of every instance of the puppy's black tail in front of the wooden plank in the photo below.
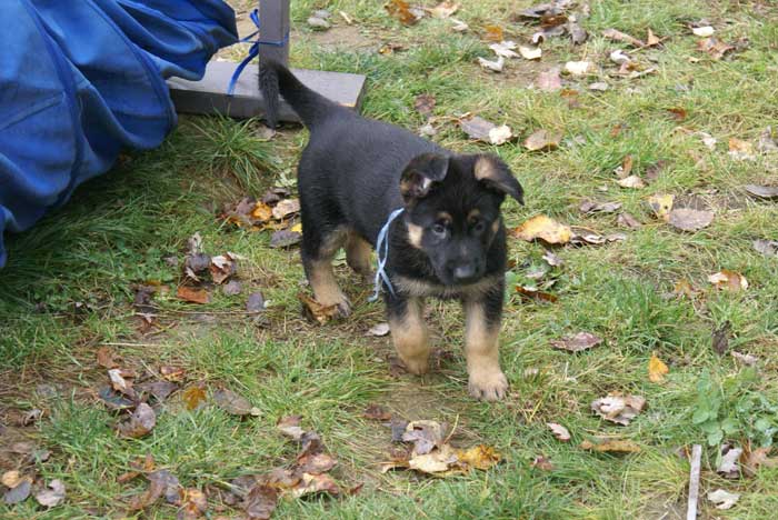
<svg viewBox="0 0 778 520">
<path fill-rule="evenodd" d="M 265 98 L 265 118 L 271 128 L 278 124 L 278 96 L 287 100 L 302 123 L 311 129 L 340 106 L 312 91 L 278 61 L 259 63 L 259 90 Z"/>
</svg>

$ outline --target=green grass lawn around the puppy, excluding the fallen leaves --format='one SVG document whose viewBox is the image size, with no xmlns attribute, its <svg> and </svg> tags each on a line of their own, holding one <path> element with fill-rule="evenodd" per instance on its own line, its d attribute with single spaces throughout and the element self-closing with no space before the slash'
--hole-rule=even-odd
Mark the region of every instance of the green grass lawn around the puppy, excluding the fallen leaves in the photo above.
<svg viewBox="0 0 778 520">
<path fill-rule="evenodd" d="M 453 150 L 491 150 L 508 161 L 527 191 L 526 208 L 511 202 L 505 209 L 510 226 L 546 213 L 602 233 L 622 231 L 615 214 L 580 213 L 577 208 L 587 198 L 621 202 L 646 223 L 628 231 L 622 242 L 557 250 L 565 260 L 552 273 L 557 303 L 510 299 L 501 358 L 511 393 L 503 402 L 467 397 L 462 317 L 453 304 L 430 302 L 435 341 L 447 356 L 439 370 L 423 378 L 390 374 L 388 338 L 365 336 L 382 320 L 382 309 L 366 302 L 369 288 L 346 268 L 339 273 L 356 303 L 353 318 L 326 327 L 306 322 L 297 302 L 302 280 L 297 252 L 270 249 L 267 232 L 236 230 L 216 218 L 223 203 L 293 179 L 306 132 L 290 127 L 262 141 L 257 121 L 182 117 L 160 149 L 129 153 L 34 229 L 8 237 L 9 263 L 0 271 L 0 420 L 8 434 L 0 439 L 0 450 L 22 439 L 51 450 L 36 470 L 47 480 L 61 479 L 68 499 L 49 511 L 31 500 L 0 504 L 0 517 L 131 517 L 127 503 L 144 484 L 117 478 L 146 453 L 187 487 L 267 471 L 293 459 L 295 447 L 275 430 L 278 418 L 290 413 L 301 414 L 303 426 L 318 431 L 338 458 L 337 480 L 347 488 L 363 482 L 365 488 L 338 500 L 282 501 L 277 518 L 682 518 L 689 468 L 677 452 L 706 444 L 706 432 L 692 421 L 708 406 L 706 399 L 718 402 L 715 422 L 735 422 L 727 440 L 771 442 L 775 431 L 758 432 L 756 421 L 778 427 L 778 364 L 771 356 L 778 346 L 777 264 L 755 251 L 751 241 L 778 239 L 778 207 L 748 198 L 741 187 L 775 182 L 777 161 L 775 154 L 735 161 L 727 154 L 727 140 L 756 142 L 778 120 L 778 11 L 769 2 L 592 1 L 582 21 L 591 34 L 585 46 L 552 39 L 539 64 L 512 60 L 501 76 L 483 73 L 476 57 L 490 51 L 477 34 L 483 26 L 497 24 L 513 39 L 529 38 L 533 28 L 512 17 L 529 4 L 467 2 L 457 16 L 471 31 L 456 34 L 445 20 L 400 27 L 377 2 L 292 2 L 292 63 L 366 74 L 363 112 L 369 117 L 417 129 L 423 121 L 413 111 L 413 98 L 431 93 L 436 116 L 478 112 L 508 123 L 521 138 L 539 128 L 563 132 L 563 146 L 545 154 L 528 153 L 518 142 L 493 149 L 473 144 L 453 123 L 442 124 L 435 137 Z M 335 20 L 332 31 L 348 30 L 349 38 L 367 47 L 320 46 L 320 36 L 306 28 L 305 19 L 310 9 L 323 6 L 352 14 L 356 30 Z M 748 47 L 720 61 L 706 58 L 695 50 L 697 38 L 686 27 L 700 18 L 722 40 L 747 38 Z M 639 38 L 651 28 L 667 38 L 662 48 L 636 53 L 657 72 L 637 80 L 610 77 L 608 53 L 621 46 L 599 36 L 608 28 Z M 376 52 L 387 41 L 402 43 L 407 51 Z M 595 93 L 586 88 L 594 77 L 569 79 L 568 88 L 580 90 L 579 106 L 569 108 L 558 93 L 527 88 L 538 71 L 571 59 L 595 61 L 597 77 L 610 89 Z M 684 121 L 668 114 L 675 107 L 687 110 Z M 614 131 L 617 126 L 620 132 Z M 719 144 L 708 151 L 678 127 L 708 132 Z M 640 174 L 659 160 L 667 166 L 647 188 L 624 190 L 614 182 L 612 170 L 626 154 Z M 664 192 L 702 200 L 716 211 L 714 223 L 680 233 L 656 221 L 646 198 Z M 174 288 L 180 271 L 166 259 L 182 258 L 187 239 L 197 231 L 209 253 L 229 250 L 247 258 L 239 272 L 243 293 L 215 291 L 212 302 L 200 307 L 159 294 L 157 326 L 140 332 L 134 288 L 149 281 Z M 542 252 L 539 244 L 512 240 L 516 274 L 521 279 L 540 264 Z M 744 273 L 749 289 L 712 289 L 707 277 L 720 269 Z M 672 296 L 680 279 L 699 290 L 694 300 Z M 267 327 L 240 313 L 246 294 L 255 290 L 272 303 Z M 712 351 L 712 331 L 726 321 L 731 323 L 730 348 L 759 357 L 756 371 Z M 601 336 L 605 344 L 572 356 L 550 348 L 550 340 L 579 330 Z M 209 389 L 229 387 L 261 416 L 241 421 L 215 407 L 188 411 L 173 396 L 150 436 L 118 439 L 111 428 L 116 419 L 96 398 L 107 381 L 94 362 L 94 351 L 103 344 L 113 344 L 137 370 L 181 364 L 190 381 Z M 652 353 L 670 367 L 664 384 L 648 381 Z M 709 373 L 710 384 L 700 397 L 702 373 Z M 642 394 L 648 409 L 628 427 L 610 426 L 591 414 L 589 403 L 611 391 Z M 389 432 L 361 418 L 372 402 L 406 419 L 457 422 L 455 443 L 493 446 L 505 463 L 447 479 L 381 474 Z M 20 414 L 32 408 L 44 410 L 43 419 L 17 428 Z M 572 440 L 553 439 L 548 421 L 565 424 Z M 579 448 L 595 436 L 618 436 L 642 451 L 621 457 Z M 715 472 L 717 449 L 706 444 L 702 491 L 724 488 L 742 497 L 730 511 L 701 500 L 702 517 L 772 518 L 778 469 L 761 468 L 752 478 L 729 481 Z M 530 468 L 539 454 L 552 461 L 553 471 Z M 0 469 L 18 462 L 17 456 L 6 458 Z M 211 497 L 210 502 L 213 508 L 218 500 Z M 147 516 L 173 518 L 176 510 L 158 504 Z"/>
</svg>

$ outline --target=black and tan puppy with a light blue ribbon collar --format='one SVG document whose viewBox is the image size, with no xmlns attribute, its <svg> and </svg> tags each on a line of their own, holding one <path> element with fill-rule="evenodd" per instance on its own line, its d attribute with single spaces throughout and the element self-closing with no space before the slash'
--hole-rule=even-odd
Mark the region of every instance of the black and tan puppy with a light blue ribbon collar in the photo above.
<svg viewBox="0 0 778 520">
<path fill-rule="evenodd" d="M 346 248 L 348 264 L 371 269 L 370 250 L 388 229 L 383 297 L 397 352 L 413 373 L 428 368 L 430 346 L 425 298 L 456 298 L 466 313 L 470 393 L 505 396 L 498 334 L 502 313 L 506 194 L 522 202 L 508 167 L 491 154 L 457 154 L 399 127 L 368 120 L 300 83 L 285 67 L 263 62 L 260 88 L 267 119 L 276 124 L 280 93 L 310 130 L 298 168 L 302 263 L 316 299 L 350 303 L 332 273 Z M 382 249 L 382 248 L 381 248 Z"/>
</svg>

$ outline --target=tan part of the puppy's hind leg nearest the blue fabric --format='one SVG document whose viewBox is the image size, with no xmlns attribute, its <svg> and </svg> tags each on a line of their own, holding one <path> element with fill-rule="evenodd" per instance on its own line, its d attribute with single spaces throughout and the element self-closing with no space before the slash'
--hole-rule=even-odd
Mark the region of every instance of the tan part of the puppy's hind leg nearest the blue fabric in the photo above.
<svg viewBox="0 0 778 520">
<path fill-rule="evenodd" d="M 342 317 L 351 313 L 351 303 L 346 294 L 338 287 L 332 271 L 332 257 L 346 242 L 346 232 L 337 229 L 328 234 L 321 242 L 316 258 L 303 256 L 303 267 L 308 281 L 313 290 L 316 300 L 322 306 L 338 306 L 338 311 Z"/>
</svg>

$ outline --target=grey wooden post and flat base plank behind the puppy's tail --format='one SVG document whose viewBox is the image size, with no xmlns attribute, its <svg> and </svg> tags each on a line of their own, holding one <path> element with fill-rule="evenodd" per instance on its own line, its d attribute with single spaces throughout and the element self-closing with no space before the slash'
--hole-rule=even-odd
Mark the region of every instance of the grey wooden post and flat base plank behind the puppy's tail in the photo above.
<svg viewBox="0 0 778 520">
<path fill-rule="evenodd" d="M 259 60 L 271 58 L 289 61 L 289 0 L 260 0 Z M 266 43 L 262 43 L 266 42 Z M 247 66 L 238 79 L 232 96 L 227 90 L 238 63 L 211 61 L 200 81 L 180 78 L 168 80 L 176 110 L 182 113 L 221 113 L 232 118 L 253 118 L 263 112 L 265 101 L 259 92 L 258 67 Z M 309 88 L 346 107 L 359 109 L 365 89 L 365 77 L 342 72 L 292 69 Z M 291 108 L 281 102 L 281 121 L 299 121 Z"/>
</svg>

